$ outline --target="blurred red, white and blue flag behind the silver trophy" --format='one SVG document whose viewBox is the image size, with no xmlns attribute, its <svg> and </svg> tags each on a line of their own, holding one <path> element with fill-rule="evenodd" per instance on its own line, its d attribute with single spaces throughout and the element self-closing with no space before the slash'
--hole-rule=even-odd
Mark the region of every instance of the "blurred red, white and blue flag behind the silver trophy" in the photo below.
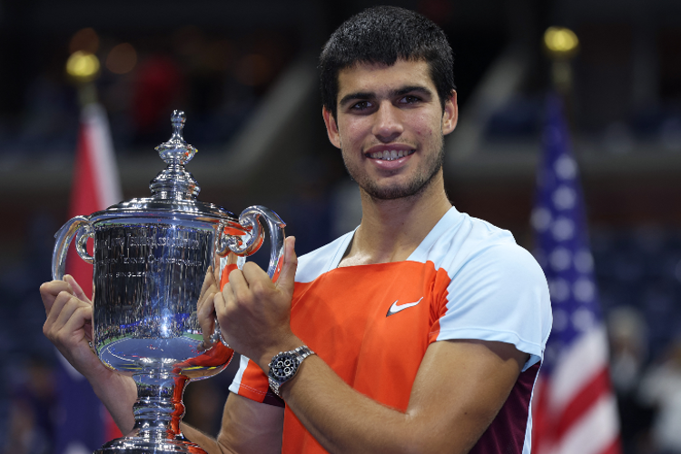
<svg viewBox="0 0 681 454">
<path fill-rule="evenodd" d="M 81 113 L 72 181 L 69 217 L 90 215 L 123 200 L 109 123 L 101 104 L 87 104 Z M 66 272 L 92 297 L 93 265 L 78 256 L 73 242 Z M 57 373 L 60 419 L 54 452 L 92 452 L 105 441 L 119 437 L 120 431 L 87 380 L 66 360 L 60 360 L 63 366 Z"/>
</svg>

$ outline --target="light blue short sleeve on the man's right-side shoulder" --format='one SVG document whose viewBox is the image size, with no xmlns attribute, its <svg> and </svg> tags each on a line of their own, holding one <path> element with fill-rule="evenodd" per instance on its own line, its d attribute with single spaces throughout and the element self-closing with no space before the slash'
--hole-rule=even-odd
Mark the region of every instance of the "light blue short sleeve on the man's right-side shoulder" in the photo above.
<svg viewBox="0 0 681 454">
<path fill-rule="evenodd" d="M 540 361 L 552 321 L 547 280 L 534 257 L 515 243 L 497 243 L 457 268 L 437 340 L 508 342 L 530 355 L 523 370 Z"/>
</svg>

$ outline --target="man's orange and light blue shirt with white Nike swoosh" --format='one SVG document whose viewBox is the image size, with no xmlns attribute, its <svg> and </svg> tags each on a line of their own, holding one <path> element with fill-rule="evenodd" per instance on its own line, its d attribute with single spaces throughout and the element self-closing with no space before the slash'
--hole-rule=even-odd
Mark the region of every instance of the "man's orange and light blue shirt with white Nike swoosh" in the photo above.
<svg viewBox="0 0 681 454">
<path fill-rule="evenodd" d="M 499 443 L 508 443 L 498 441 L 498 435 L 513 434 L 512 443 L 518 450 L 509 452 L 522 452 L 528 431 L 528 402 L 550 326 L 548 289 L 537 263 L 508 232 L 454 209 L 405 262 L 337 268 L 350 238 L 351 234 L 346 235 L 301 257 L 291 305 L 291 330 L 354 390 L 402 411 L 407 409 L 412 384 L 431 342 L 473 338 L 514 343 L 532 357 L 505 406 L 508 418 L 499 419 L 498 429 L 490 427 L 483 437 L 489 439 L 489 449 L 494 452 Z M 454 250 L 448 252 L 452 247 Z M 511 264 L 516 268 L 520 265 L 522 283 L 518 284 L 516 271 L 496 283 L 498 272 L 489 276 L 479 272 L 479 266 L 504 270 Z M 482 274 L 482 281 L 487 282 L 479 291 L 482 302 L 475 291 L 482 284 L 476 282 L 470 288 L 458 282 L 467 279 L 468 271 Z M 508 281 L 527 289 L 513 295 Z M 498 301 L 498 295 L 487 295 L 489 288 L 496 286 L 503 293 L 502 301 Z M 506 295 L 507 291 L 511 295 Z M 452 296 L 458 301 L 452 301 Z M 540 311 L 543 315 L 518 316 L 505 302 L 516 298 L 527 300 L 524 312 Z M 480 307 L 485 301 L 490 301 L 487 307 Z M 495 305 L 506 306 L 502 311 L 513 316 L 496 314 L 478 321 L 479 314 L 493 310 Z M 539 323 L 530 329 L 512 326 L 517 321 L 526 325 L 534 320 Z M 480 323 L 487 326 L 476 326 Z M 269 385 L 262 370 L 244 358 L 230 389 L 262 402 Z M 485 446 L 481 441 L 480 447 Z M 326 452 L 288 408 L 282 452 Z"/>
</svg>

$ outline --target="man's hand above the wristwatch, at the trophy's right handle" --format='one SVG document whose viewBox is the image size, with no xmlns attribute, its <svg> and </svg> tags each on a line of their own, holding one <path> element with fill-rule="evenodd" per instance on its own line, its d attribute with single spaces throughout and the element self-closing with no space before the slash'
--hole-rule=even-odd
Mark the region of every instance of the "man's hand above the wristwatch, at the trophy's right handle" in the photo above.
<svg viewBox="0 0 681 454">
<path fill-rule="evenodd" d="M 214 307 L 222 338 L 230 347 L 267 372 L 271 358 L 302 345 L 291 331 L 291 297 L 298 259 L 295 239 L 284 241 L 284 263 L 272 282 L 255 263 L 230 273 L 230 281 L 215 294 Z"/>
</svg>

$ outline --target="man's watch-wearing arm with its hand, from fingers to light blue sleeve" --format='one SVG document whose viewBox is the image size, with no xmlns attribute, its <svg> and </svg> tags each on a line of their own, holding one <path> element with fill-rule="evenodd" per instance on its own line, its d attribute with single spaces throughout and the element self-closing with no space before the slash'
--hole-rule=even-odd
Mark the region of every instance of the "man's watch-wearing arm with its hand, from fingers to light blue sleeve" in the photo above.
<svg viewBox="0 0 681 454">
<path fill-rule="evenodd" d="M 290 327 L 296 257 L 285 243 L 280 280 L 247 263 L 214 300 L 222 334 L 267 372 L 278 351 L 303 342 Z M 407 411 L 352 390 L 317 356 L 304 360 L 281 396 L 306 429 L 336 452 L 468 452 L 497 415 L 528 354 L 492 341 L 437 341 L 424 356 Z"/>
</svg>

